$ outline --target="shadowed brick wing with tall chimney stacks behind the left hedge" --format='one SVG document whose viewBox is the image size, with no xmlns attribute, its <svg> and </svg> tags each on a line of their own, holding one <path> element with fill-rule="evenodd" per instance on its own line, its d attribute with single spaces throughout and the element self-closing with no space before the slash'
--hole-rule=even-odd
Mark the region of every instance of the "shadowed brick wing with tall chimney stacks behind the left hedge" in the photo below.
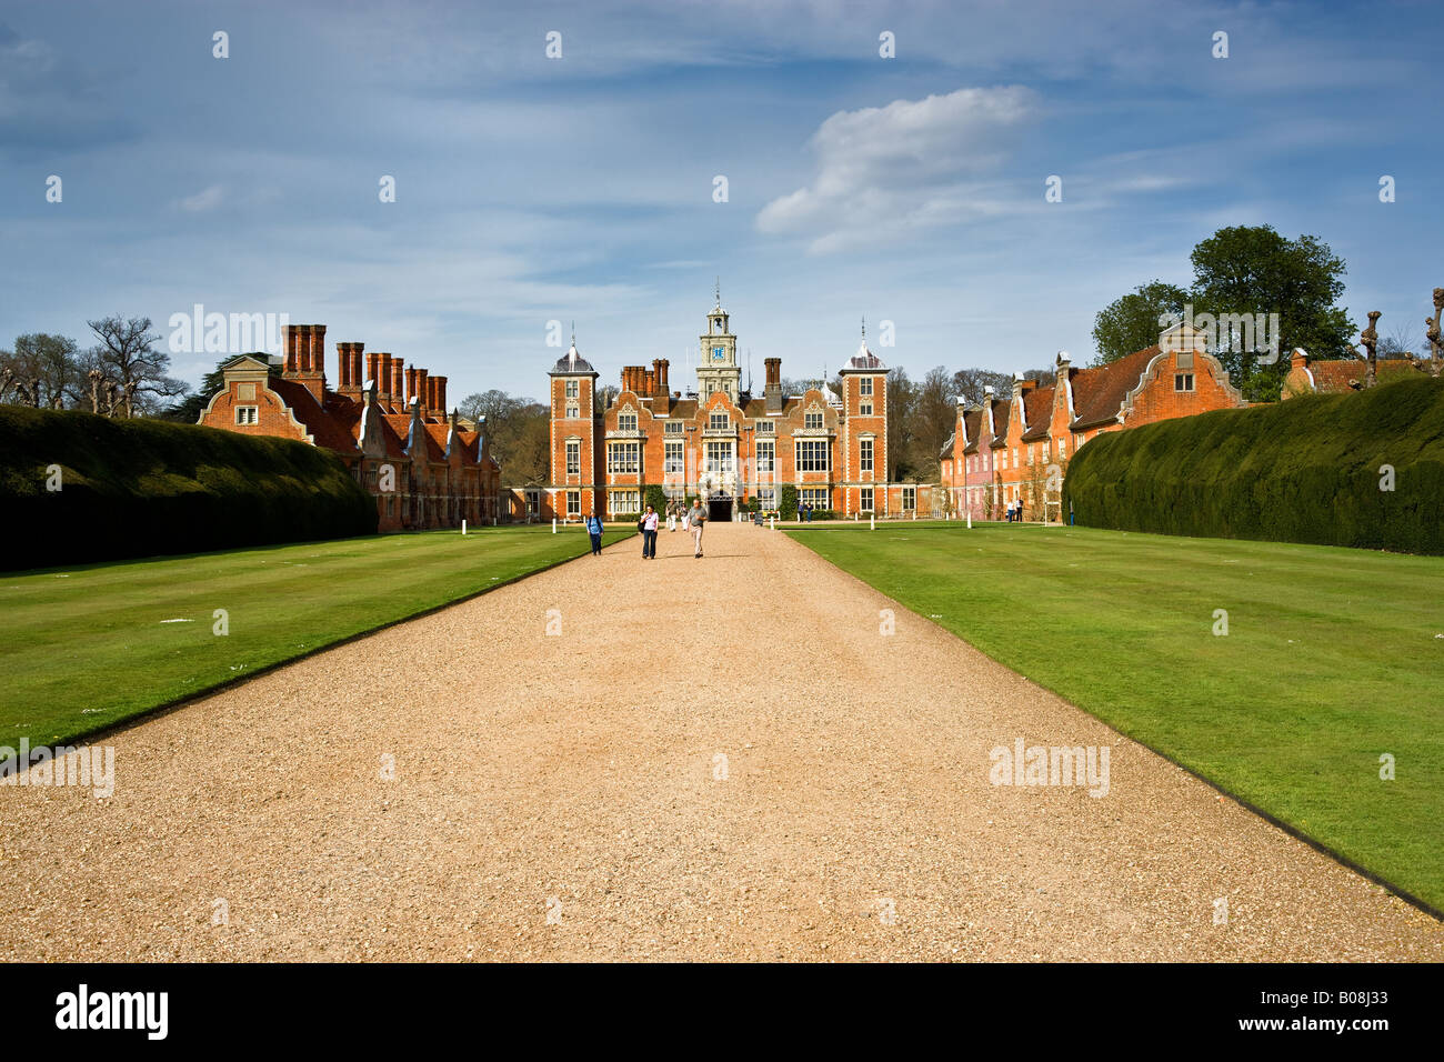
<svg viewBox="0 0 1444 1062">
<path fill-rule="evenodd" d="M 492 519 L 501 470 L 485 425 L 446 412 L 446 377 L 409 368 L 390 353 L 365 353 L 362 342 L 338 342 L 332 390 L 325 338 L 325 325 L 287 325 L 280 358 L 241 354 L 225 363 L 225 383 L 199 423 L 329 449 L 375 498 L 381 530 Z"/>
</svg>

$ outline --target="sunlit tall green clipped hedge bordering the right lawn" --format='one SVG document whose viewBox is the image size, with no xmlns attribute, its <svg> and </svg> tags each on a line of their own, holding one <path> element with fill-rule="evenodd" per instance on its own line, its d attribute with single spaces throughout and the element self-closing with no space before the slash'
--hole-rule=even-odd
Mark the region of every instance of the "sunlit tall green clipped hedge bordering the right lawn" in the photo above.
<svg viewBox="0 0 1444 1062">
<path fill-rule="evenodd" d="M 1100 435 L 1063 488 L 1090 527 L 1444 553 L 1444 380 Z"/>
</svg>

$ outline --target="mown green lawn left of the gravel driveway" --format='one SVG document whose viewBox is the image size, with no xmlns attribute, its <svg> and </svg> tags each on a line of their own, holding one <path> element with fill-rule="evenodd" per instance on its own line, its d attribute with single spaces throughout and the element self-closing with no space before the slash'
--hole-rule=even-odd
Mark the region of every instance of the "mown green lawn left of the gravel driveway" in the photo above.
<svg viewBox="0 0 1444 1062">
<path fill-rule="evenodd" d="M 586 551 L 576 526 L 482 527 L 0 575 L 0 746 L 59 744 Z"/>
</svg>

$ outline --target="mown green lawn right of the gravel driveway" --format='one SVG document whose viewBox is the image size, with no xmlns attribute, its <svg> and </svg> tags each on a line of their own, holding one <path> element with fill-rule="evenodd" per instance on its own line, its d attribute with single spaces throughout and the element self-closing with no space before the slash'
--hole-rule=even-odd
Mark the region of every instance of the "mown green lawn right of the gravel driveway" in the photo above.
<svg viewBox="0 0 1444 1062">
<path fill-rule="evenodd" d="M 1444 907 L 1444 559 L 1037 524 L 787 533 Z"/>
</svg>

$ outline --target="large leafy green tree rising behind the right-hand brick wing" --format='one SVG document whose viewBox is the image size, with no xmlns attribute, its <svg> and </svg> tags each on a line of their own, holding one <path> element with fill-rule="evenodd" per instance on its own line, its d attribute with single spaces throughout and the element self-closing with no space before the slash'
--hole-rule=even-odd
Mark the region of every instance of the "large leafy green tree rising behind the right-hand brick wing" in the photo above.
<svg viewBox="0 0 1444 1062">
<path fill-rule="evenodd" d="M 1276 360 L 1232 350 L 1220 329 L 1214 353 L 1245 397 L 1278 399 L 1294 347 L 1320 360 L 1357 357 L 1353 325 L 1336 305 L 1344 290 L 1344 262 L 1318 237 L 1288 240 L 1271 225 L 1235 225 L 1200 241 L 1191 262 L 1194 315 L 1278 314 Z"/>
</svg>

